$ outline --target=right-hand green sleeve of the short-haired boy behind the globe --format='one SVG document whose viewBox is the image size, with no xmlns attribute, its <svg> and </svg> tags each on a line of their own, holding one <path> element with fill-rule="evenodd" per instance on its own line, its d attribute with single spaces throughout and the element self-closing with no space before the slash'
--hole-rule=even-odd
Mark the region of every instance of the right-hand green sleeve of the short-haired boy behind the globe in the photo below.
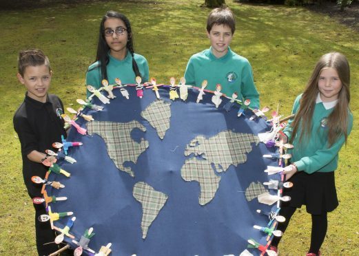
<svg viewBox="0 0 359 256">
<path fill-rule="evenodd" d="M 254 85 L 254 78 L 252 73 L 252 67 L 249 63 L 243 67 L 242 70 L 242 84 L 240 85 L 240 91 L 244 99 L 249 98 L 251 103 L 249 107 L 259 108 L 259 93 Z"/>
</svg>

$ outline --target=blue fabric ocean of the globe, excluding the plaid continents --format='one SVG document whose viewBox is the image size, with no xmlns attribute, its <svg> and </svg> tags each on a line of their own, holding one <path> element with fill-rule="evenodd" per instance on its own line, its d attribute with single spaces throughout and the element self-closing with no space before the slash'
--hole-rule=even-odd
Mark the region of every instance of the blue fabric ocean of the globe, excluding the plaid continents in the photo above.
<svg viewBox="0 0 359 256">
<path fill-rule="evenodd" d="M 205 206 L 198 204 L 198 182 L 185 182 L 181 178 L 181 167 L 188 158 L 184 151 L 190 140 L 201 134 L 214 136 L 227 129 L 258 134 L 269 129 L 265 120 L 249 120 L 251 111 L 246 112 L 246 117 L 238 118 L 238 105 L 226 112 L 223 106 L 228 100 L 225 98 L 216 109 L 209 93 L 203 96 L 201 103 L 196 103 L 198 91 L 189 89 L 184 103 L 180 99 L 170 100 L 169 89 L 161 88 L 161 99 L 171 103 L 172 113 L 170 129 L 161 140 L 156 130 L 141 117 L 141 111 L 156 99 L 154 92 L 145 89 L 140 99 L 136 97 L 134 87 L 127 87 L 127 90 L 129 100 L 121 96 L 119 89 L 114 89 L 117 98 L 105 105 L 103 111 L 85 109 L 84 113 L 102 121 L 138 120 L 146 127 L 145 132 L 132 131 L 134 140 L 145 138 L 150 144 L 136 164 L 127 162 L 135 177 L 116 168 L 100 136 L 82 136 L 76 129 L 70 130 L 68 141 L 83 142 L 83 146 L 69 149 L 70 156 L 77 162 L 59 162 L 71 177 L 50 175 L 49 180 L 58 180 L 65 184 L 65 188 L 58 191 L 48 187 L 48 194 L 68 197 L 66 201 L 52 203 L 52 211 L 74 212 L 76 221 L 70 233 L 76 236 L 76 240 L 92 226 L 96 235 L 89 247 L 99 251 L 101 245 L 111 242 L 112 255 L 239 255 L 247 248 L 249 238 L 266 244 L 266 235 L 254 229 L 253 225 L 266 226 L 268 219 L 256 213 L 256 209 L 270 211 L 276 206 L 259 204 L 258 200 L 247 202 L 245 198 L 245 189 L 251 182 L 279 179 L 279 175 L 268 176 L 264 172 L 267 165 L 276 165 L 276 162 L 263 159 L 263 154 L 270 153 L 263 143 L 252 144 L 252 151 L 247 154 L 244 164 L 216 173 L 221 176 L 219 188 L 214 199 Z M 102 105 L 96 98 L 93 102 Z M 82 118 L 76 122 L 85 127 Z M 145 239 L 142 239 L 141 231 L 141 204 L 132 196 L 136 182 L 146 182 L 156 191 L 168 195 Z M 276 191 L 271 190 L 271 193 Z M 62 228 L 67 220 L 65 217 L 54 224 Z M 70 245 L 75 247 L 71 242 Z M 249 250 L 259 255 L 258 250 Z"/>
</svg>

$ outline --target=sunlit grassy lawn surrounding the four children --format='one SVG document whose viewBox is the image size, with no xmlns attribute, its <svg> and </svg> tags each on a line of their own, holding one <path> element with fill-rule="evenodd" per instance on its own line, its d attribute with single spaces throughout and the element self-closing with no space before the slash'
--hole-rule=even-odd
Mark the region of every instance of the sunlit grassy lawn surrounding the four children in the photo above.
<svg viewBox="0 0 359 256">
<path fill-rule="evenodd" d="M 76 5 L 0 10 L 0 254 L 36 255 L 33 207 L 21 172 L 20 145 L 12 116 L 23 100 L 18 83 L 17 54 L 39 47 L 48 54 L 54 76 L 51 93 L 65 107 L 85 98 L 85 72 L 94 61 L 101 17 L 107 10 L 123 12 L 134 30 L 135 51 L 147 58 L 150 76 L 168 83 L 183 76 L 192 54 L 209 47 L 205 21 L 210 10 L 203 0 L 94 1 Z M 342 52 L 351 64 L 351 110 L 354 128 L 340 152 L 336 182 L 340 205 L 329 213 L 323 255 L 359 255 L 359 34 L 330 17 L 304 8 L 246 5 L 227 0 L 236 14 L 232 50 L 249 59 L 261 105 L 290 114 L 294 98 L 318 58 Z M 310 216 L 303 207 L 280 245 L 281 255 L 304 255 L 309 248 Z"/>
</svg>

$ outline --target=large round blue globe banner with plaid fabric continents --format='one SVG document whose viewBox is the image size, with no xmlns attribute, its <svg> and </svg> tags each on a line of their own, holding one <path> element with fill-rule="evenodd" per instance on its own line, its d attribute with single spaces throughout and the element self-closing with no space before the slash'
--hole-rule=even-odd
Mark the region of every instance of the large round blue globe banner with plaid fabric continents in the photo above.
<svg viewBox="0 0 359 256">
<path fill-rule="evenodd" d="M 133 86 L 114 89 L 116 98 L 106 104 L 92 98 L 102 110 L 85 107 L 71 121 L 67 142 L 83 145 L 68 147 L 73 164 L 57 161 L 70 177 L 48 177 L 65 187 L 45 189 L 67 198 L 48 204 L 51 213 L 73 215 L 53 225 L 70 228 L 65 242 L 81 245 L 83 255 L 108 243 L 112 255 L 240 255 L 246 249 L 260 255 L 265 250 L 258 244 L 266 246 L 271 233 L 254 225 L 271 226 L 257 210 L 276 212 L 277 205 L 257 197 L 277 196 L 263 182 L 280 180 L 265 173 L 268 165 L 278 166 L 276 160 L 263 158 L 276 149 L 258 139 L 269 125 L 249 120 L 249 109 L 238 117 L 240 105 L 228 98 L 214 104 L 214 94 L 205 92 L 197 103 L 198 89 L 188 89 L 186 100 L 171 92 L 166 86 L 156 93 L 144 87 L 142 96 Z M 249 239 L 257 248 L 247 248 Z"/>
</svg>

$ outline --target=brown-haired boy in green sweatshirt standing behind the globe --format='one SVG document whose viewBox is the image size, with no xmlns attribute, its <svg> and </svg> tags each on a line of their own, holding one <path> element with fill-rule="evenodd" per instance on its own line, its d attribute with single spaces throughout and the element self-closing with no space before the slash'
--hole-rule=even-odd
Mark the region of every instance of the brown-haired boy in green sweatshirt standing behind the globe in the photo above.
<svg viewBox="0 0 359 256">
<path fill-rule="evenodd" d="M 254 85 L 252 67 L 247 58 L 232 52 L 232 41 L 236 20 L 229 8 L 216 8 L 207 18 L 207 36 L 211 47 L 194 54 L 187 63 L 185 79 L 188 85 L 201 87 L 208 81 L 206 89 L 215 91 L 216 84 L 221 92 L 231 97 L 234 92 L 238 99 L 250 99 L 249 107 L 259 107 L 259 93 Z"/>
</svg>

